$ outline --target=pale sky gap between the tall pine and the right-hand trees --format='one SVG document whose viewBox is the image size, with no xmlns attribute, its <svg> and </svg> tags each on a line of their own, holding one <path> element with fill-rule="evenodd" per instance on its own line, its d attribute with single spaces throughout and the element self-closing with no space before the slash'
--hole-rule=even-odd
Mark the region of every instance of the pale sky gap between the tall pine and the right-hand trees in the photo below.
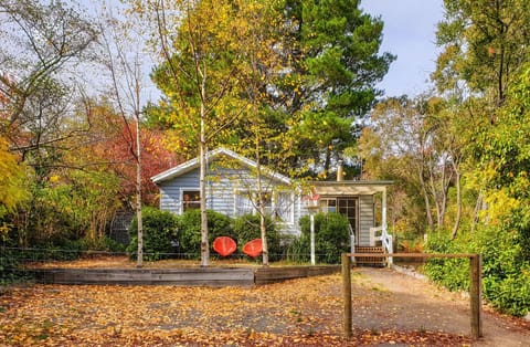
<svg viewBox="0 0 530 347">
<path fill-rule="evenodd" d="M 427 88 L 437 48 L 436 23 L 443 18 L 442 0 L 361 0 L 361 8 L 384 22 L 382 52 L 398 55 L 379 85 L 386 96 L 414 96 Z"/>
</svg>

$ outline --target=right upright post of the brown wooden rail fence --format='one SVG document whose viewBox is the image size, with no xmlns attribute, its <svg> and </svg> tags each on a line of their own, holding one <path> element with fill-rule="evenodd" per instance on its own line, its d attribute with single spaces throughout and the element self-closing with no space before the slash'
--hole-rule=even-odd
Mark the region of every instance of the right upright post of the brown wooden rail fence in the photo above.
<svg viewBox="0 0 530 347">
<path fill-rule="evenodd" d="M 475 338 L 483 336 L 483 317 L 481 317 L 481 256 L 474 254 L 469 257 L 469 298 L 471 305 L 471 335 Z"/>
</svg>

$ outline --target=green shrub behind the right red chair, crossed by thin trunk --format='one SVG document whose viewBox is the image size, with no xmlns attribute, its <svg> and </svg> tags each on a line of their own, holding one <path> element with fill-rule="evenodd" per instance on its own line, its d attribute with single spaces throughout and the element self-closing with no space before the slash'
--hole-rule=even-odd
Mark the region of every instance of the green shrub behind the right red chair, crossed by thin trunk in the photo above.
<svg viewBox="0 0 530 347">
<path fill-rule="evenodd" d="M 242 250 L 246 242 L 254 239 L 262 238 L 262 231 L 259 229 L 261 215 L 259 214 L 244 214 L 234 220 L 234 233 L 239 249 Z M 269 218 L 265 218 L 268 260 L 277 261 L 283 256 L 283 249 L 280 245 L 280 236 L 277 230 L 277 225 Z"/>
</svg>

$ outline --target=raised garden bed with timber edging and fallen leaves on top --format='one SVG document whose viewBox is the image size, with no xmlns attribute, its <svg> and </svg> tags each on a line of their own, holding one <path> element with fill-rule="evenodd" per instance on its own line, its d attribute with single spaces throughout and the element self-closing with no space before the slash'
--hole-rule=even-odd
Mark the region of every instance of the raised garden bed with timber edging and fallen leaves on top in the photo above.
<svg viewBox="0 0 530 347">
<path fill-rule="evenodd" d="M 201 267 L 197 261 L 149 262 L 144 267 L 126 257 L 74 262 L 33 263 L 26 266 L 38 283 L 181 286 L 252 286 L 285 280 L 318 276 L 340 271 L 339 265 L 261 266 L 250 262 L 213 261 Z"/>
</svg>

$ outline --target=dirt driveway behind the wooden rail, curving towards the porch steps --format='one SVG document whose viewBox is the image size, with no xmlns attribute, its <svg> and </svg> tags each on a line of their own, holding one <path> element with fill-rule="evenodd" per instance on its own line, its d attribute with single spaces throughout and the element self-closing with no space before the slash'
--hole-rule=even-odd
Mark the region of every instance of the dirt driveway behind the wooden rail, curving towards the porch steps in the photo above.
<svg viewBox="0 0 530 347">
<path fill-rule="evenodd" d="M 437 288 L 424 280 L 389 269 L 356 269 L 353 275 L 379 291 L 381 306 L 356 306 L 353 325 L 361 328 L 470 334 L 468 295 Z M 354 295 L 354 294 L 353 294 Z M 374 326 L 374 322 L 377 326 Z M 483 335 L 474 346 L 530 346 L 530 323 L 483 311 Z"/>
</svg>

